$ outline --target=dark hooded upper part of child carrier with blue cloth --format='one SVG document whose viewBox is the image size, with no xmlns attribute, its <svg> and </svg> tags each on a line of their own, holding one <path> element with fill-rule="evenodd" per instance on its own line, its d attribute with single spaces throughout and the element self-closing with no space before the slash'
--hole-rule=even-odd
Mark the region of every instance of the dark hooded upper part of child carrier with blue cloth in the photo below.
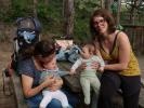
<svg viewBox="0 0 144 108">
<path fill-rule="evenodd" d="M 16 25 L 15 52 L 19 52 L 39 41 L 41 25 L 37 18 L 21 17 L 16 19 Z"/>
</svg>

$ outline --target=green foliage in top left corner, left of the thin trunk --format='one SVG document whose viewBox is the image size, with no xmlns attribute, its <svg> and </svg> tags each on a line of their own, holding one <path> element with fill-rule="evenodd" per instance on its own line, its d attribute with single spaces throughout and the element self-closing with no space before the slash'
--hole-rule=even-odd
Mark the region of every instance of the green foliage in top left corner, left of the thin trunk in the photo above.
<svg viewBox="0 0 144 108">
<path fill-rule="evenodd" d="M 0 19 L 3 22 L 14 22 L 17 17 L 31 16 L 31 0 L 12 0 L 12 5 L 8 12 L 0 11 Z"/>
</svg>

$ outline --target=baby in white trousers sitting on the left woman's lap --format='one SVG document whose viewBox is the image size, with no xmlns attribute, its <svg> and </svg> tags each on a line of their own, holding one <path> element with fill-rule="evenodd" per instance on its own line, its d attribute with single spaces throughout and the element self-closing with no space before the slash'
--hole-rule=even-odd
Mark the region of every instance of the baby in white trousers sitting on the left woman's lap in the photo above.
<svg viewBox="0 0 144 108">
<path fill-rule="evenodd" d="M 45 69 L 41 71 L 41 77 L 40 77 L 40 83 L 44 81 L 44 79 L 48 76 L 54 77 L 55 80 L 62 80 L 62 78 L 58 75 L 58 68 L 56 65 L 56 58 L 53 57 L 53 59 L 44 66 Z M 53 99 L 56 98 L 62 103 L 63 108 L 71 108 L 68 104 L 66 95 L 61 91 L 49 91 L 49 89 L 44 89 L 42 91 L 43 98 L 40 103 L 40 108 L 47 108 L 48 104 Z"/>
</svg>

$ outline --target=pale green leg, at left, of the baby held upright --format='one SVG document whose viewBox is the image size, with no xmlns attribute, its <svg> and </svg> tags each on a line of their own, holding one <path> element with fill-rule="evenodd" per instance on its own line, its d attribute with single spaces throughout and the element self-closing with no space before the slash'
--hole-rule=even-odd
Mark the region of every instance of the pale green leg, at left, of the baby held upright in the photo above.
<svg viewBox="0 0 144 108">
<path fill-rule="evenodd" d="M 90 81 L 87 78 L 80 78 L 80 84 L 82 86 L 82 92 L 84 95 L 84 103 L 90 104 Z"/>
</svg>

